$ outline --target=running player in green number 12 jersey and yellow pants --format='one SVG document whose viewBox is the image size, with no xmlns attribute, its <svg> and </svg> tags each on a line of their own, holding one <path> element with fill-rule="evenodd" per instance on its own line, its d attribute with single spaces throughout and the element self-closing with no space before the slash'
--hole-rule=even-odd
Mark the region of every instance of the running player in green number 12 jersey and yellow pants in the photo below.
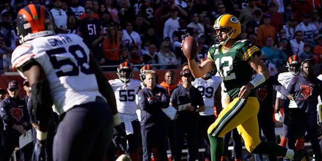
<svg viewBox="0 0 322 161">
<path fill-rule="evenodd" d="M 276 142 L 261 141 L 257 113 L 259 102 L 254 88 L 264 83 L 270 72 L 257 55 L 260 49 L 250 40 L 241 39 L 239 20 L 232 15 L 218 17 L 213 26 L 219 43 L 208 50 L 207 60 L 200 65 L 188 60 L 195 77 L 217 68 L 230 97 L 216 121 L 208 128 L 211 143 L 211 160 L 218 161 L 223 152 L 222 137 L 237 127 L 248 151 L 258 154 L 285 156 L 292 160 L 308 160 L 306 150 L 295 151 L 279 146 Z M 257 71 L 254 78 L 253 69 Z"/>
</svg>

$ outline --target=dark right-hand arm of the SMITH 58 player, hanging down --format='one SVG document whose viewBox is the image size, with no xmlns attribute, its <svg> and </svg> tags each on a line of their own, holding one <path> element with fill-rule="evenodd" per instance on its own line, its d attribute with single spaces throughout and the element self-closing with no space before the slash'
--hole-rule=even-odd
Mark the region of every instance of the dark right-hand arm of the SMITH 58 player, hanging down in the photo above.
<svg viewBox="0 0 322 161">
<path fill-rule="evenodd" d="M 111 108 L 113 115 L 117 114 L 118 112 L 116 108 L 116 100 L 113 89 L 111 85 L 108 83 L 107 78 L 105 77 L 101 67 L 95 60 L 92 52 L 90 54 L 90 68 L 95 73 L 100 93 L 103 95 L 103 97 L 106 98 L 107 104 Z"/>
</svg>

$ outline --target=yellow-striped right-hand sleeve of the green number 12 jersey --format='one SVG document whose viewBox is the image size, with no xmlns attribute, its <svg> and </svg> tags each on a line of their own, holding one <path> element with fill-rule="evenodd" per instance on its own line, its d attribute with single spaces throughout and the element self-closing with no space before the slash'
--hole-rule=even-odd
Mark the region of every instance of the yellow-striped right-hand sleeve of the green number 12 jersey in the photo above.
<svg viewBox="0 0 322 161">
<path fill-rule="evenodd" d="M 241 53 L 243 53 L 242 60 L 244 61 L 250 61 L 253 59 L 256 55 L 260 55 L 260 49 L 255 46 L 250 40 L 239 40 L 237 45 L 242 45 L 241 47 Z"/>
</svg>

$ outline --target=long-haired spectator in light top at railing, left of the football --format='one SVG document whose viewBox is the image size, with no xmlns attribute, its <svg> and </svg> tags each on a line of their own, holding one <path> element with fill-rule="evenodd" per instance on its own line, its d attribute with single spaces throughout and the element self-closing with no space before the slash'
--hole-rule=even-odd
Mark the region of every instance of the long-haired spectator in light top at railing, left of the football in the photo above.
<svg viewBox="0 0 322 161">
<path fill-rule="evenodd" d="M 171 64 L 160 66 L 159 69 L 173 69 L 178 64 L 177 56 L 170 50 L 170 42 L 163 41 L 157 54 L 158 64 Z"/>
</svg>

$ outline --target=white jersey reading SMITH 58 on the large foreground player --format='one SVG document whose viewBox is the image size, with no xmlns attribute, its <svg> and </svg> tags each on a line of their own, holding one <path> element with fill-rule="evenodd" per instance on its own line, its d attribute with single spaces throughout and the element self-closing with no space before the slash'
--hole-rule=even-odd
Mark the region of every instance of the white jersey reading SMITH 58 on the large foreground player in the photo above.
<svg viewBox="0 0 322 161">
<path fill-rule="evenodd" d="M 18 71 L 32 59 L 41 65 L 49 81 L 53 110 L 58 114 L 103 97 L 90 69 L 90 50 L 82 40 L 75 34 L 38 37 L 18 46 L 12 54 L 11 62 Z"/>
</svg>

